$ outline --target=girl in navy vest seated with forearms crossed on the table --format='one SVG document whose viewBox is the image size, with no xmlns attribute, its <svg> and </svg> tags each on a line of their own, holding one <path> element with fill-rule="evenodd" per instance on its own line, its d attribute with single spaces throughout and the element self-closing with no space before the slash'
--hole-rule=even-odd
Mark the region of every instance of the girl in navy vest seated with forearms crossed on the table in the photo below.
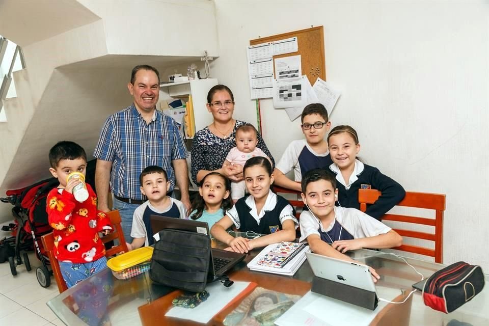
<svg viewBox="0 0 489 326">
<path fill-rule="evenodd" d="M 285 198 L 270 191 L 270 185 L 274 182 L 271 172 L 266 157 L 248 159 L 243 174 L 250 196 L 239 199 L 210 230 L 212 236 L 228 244 L 235 252 L 247 253 L 270 243 L 295 239 L 297 220 L 294 209 Z M 252 231 L 265 235 L 251 240 L 235 238 L 226 232 L 233 224 L 241 232 Z"/>
</svg>

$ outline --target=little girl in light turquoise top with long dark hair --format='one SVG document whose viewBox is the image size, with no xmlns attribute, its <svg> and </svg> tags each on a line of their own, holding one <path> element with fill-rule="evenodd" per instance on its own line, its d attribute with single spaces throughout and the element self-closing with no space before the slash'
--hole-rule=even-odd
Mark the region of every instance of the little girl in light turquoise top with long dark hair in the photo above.
<svg viewBox="0 0 489 326">
<path fill-rule="evenodd" d="M 206 222 L 209 229 L 223 218 L 231 202 L 231 182 L 219 172 L 211 172 L 200 181 L 199 195 L 192 202 L 189 216 Z"/>
</svg>

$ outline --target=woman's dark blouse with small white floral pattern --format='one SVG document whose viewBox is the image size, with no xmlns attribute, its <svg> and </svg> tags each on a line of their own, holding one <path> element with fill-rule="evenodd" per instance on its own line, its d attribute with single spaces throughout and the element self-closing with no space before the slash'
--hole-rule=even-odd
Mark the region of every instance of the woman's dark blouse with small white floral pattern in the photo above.
<svg viewBox="0 0 489 326">
<path fill-rule="evenodd" d="M 196 184 L 197 173 L 200 170 L 214 171 L 223 167 L 224 160 L 228 155 L 231 148 L 236 147 L 236 129 L 239 126 L 246 124 L 246 122 L 236 120 L 234 124 L 233 132 L 228 138 L 222 139 L 213 134 L 209 127 L 205 127 L 199 130 L 194 135 L 194 141 L 192 142 L 192 180 Z M 263 138 L 258 133 L 258 148 L 260 148 L 271 159 L 273 167 L 275 167 L 274 157 L 271 156 L 270 151 L 265 145 Z"/>
</svg>

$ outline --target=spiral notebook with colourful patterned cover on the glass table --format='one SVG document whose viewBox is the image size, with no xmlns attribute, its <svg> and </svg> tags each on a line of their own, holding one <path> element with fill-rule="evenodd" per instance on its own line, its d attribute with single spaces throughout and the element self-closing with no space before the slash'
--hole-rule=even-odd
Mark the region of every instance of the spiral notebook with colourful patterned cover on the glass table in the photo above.
<svg viewBox="0 0 489 326">
<path fill-rule="evenodd" d="M 292 276 L 306 260 L 306 252 L 309 251 L 305 243 L 273 243 L 266 246 L 247 266 L 251 270 Z"/>
</svg>

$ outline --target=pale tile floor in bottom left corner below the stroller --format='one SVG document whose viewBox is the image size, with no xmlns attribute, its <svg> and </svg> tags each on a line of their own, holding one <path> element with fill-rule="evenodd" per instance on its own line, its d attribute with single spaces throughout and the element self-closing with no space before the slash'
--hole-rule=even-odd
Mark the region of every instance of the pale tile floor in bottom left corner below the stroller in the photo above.
<svg viewBox="0 0 489 326">
<path fill-rule="evenodd" d="M 5 236 L 5 235 L 4 235 Z M 17 266 L 17 275 L 10 273 L 9 262 L 0 264 L 0 325 L 43 326 L 64 323 L 56 317 L 46 303 L 59 294 L 54 278 L 51 285 L 43 288 L 36 278 L 36 267 L 41 262 L 33 252 L 29 253 L 32 270 L 25 265 Z"/>
</svg>

